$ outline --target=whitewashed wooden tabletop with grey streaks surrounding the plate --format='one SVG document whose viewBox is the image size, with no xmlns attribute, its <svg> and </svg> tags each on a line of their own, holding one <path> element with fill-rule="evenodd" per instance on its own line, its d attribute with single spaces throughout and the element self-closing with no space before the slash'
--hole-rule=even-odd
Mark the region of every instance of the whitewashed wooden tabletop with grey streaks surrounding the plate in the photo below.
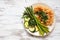
<svg viewBox="0 0 60 40">
<path fill-rule="evenodd" d="M 49 5 L 56 16 L 54 31 L 45 38 L 29 35 L 22 24 L 24 7 L 38 2 Z M 60 0 L 0 0 L 0 40 L 60 40 Z"/>
</svg>

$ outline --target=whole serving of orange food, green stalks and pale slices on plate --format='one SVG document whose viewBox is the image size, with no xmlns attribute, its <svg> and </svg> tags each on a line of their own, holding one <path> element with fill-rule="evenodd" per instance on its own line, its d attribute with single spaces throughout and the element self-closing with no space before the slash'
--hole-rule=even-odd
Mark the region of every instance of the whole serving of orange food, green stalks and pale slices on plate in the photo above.
<svg viewBox="0 0 60 40">
<path fill-rule="evenodd" d="M 48 26 L 54 22 L 54 13 L 51 8 L 36 4 L 25 7 L 23 18 L 26 29 L 31 33 L 39 32 L 41 36 L 44 36 L 50 32 Z"/>
</svg>

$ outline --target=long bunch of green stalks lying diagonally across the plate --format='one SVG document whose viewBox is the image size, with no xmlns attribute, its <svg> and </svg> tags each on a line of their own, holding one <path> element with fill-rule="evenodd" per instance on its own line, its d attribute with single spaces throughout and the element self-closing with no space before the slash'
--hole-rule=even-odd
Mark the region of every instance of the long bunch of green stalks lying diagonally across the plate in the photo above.
<svg viewBox="0 0 60 40">
<path fill-rule="evenodd" d="M 37 25 L 37 28 L 38 28 L 38 31 L 39 31 L 39 34 L 44 36 L 44 33 L 48 33 L 49 30 L 46 26 L 42 25 L 40 23 L 40 21 L 35 17 L 34 15 L 34 12 L 33 12 L 33 7 L 26 7 L 25 8 L 26 10 L 26 14 L 28 14 L 30 16 L 30 19 L 34 19 L 35 23 L 34 24 L 34 21 L 33 20 L 30 20 L 31 22 L 29 22 L 31 25 L 34 24 L 34 25 Z M 32 23 L 33 22 L 33 23 Z"/>
</svg>

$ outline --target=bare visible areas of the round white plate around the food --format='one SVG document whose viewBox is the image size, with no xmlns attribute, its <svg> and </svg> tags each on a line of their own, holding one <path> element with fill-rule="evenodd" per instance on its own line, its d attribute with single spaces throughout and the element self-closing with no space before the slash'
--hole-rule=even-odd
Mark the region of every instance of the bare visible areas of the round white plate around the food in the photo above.
<svg viewBox="0 0 60 40">
<path fill-rule="evenodd" d="M 34 5 L 36 5 L 36 4 L 42 4 L 42 5 L 45 5 L 45 6 L 49 7 L 48 5 L 46 5 L 46 4 L 44 4 L 44 3 L 35 3 L 35 4 L 32 4 L 32 6 L 34 6 Z M 30 5 L 30 6 L 31 6 L 31 5 Z M 50 7 L 49 7 L 49 8 L 50 8 Z M 53 10 L 53 9 L 52 9 L 52 10 Z M 55 27 L 55 15 L 54 15 L 54 22 L 53 22 L 53 24 L 48 27 L 48 28 L 49 28 L 49 31 L 50 31 L 48 34 L 50 34 L 50 33 L 53 31 L 54 27 Z M 26 28 L 25 28 L 25 29 L 26 29 Z M 26 31 L 27 31 L 29 34 L 34 35 L 34 36 L 41 36 L 41 35 L 39 34 L 39 32 L 32 33 L 32 32 L 29 31 L 29 29 L 26 29 Z M 48 35 L 48 34 L 44 34 L 44 36 L 46 36 L 46 35 Z"/>
</svg>

